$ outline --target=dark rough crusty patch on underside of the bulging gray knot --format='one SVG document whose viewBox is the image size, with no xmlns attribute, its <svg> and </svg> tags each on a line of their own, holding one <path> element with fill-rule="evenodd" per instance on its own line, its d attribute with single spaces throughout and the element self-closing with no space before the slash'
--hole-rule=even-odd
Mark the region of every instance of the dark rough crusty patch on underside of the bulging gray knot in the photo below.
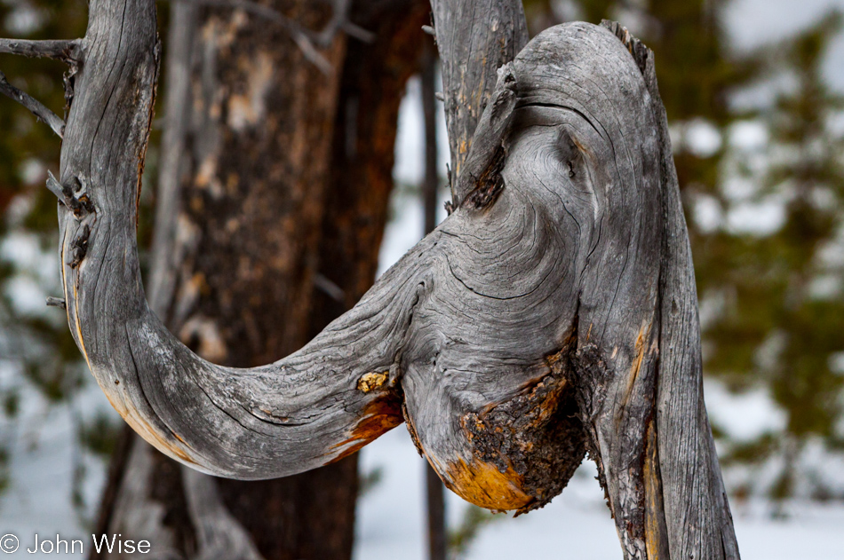
<svg viewBox="0 0 844 560">
<path fill-rule="evenodd" d="M 585 456 L 585 437 L 563 353 L 552 372 L 514 398 L 460 419 L 475 458 L 508 473 L 532 501 L 517 515 L 562 492 Z"/>
</svg>

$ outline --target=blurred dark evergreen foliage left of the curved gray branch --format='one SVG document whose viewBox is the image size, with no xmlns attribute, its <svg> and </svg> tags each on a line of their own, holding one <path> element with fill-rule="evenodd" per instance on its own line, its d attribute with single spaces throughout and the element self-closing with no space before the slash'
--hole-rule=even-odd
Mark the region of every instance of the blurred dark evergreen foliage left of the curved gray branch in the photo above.
<svg viewBox="0 0 844 560">
<path fill-rule="evenodd" d="M 0 2 L 0 36 L 55 39 L 83 36 L 88 21 L 84 0 L 6 0 Z M 62 73 L 66 66 L 50 59 L 0 54 L 0 72 L 10 83 L 64 113 Z M 37 310 L 20 303 L 20 287 L 37 287 L 45 296 L 59 296 L 55 260 L 56 200 L 44 188 L 46 171 L 57 172 L 60 142 L 52 130 L 12 99 L 0 95 L 0 490 L 13 482 L 8 463 L 17 425 L 20 395 L 26 386 L 49 404 L 68 404 L 89 381 L 87 368 L 68 332 L 62 312 Z M 51 273 L 54 272 L 54 273 Z M 11 374 L 11 375 L 10 375 Z M 73 407 L 71 407 L 73 410 Z M 107 454 L 114 440 L 111 417 L 76 419 L 79 444 Z M 71 497 L 81 506 L 84 461 L 75 454 L 75 487 Z"/>
</svg>

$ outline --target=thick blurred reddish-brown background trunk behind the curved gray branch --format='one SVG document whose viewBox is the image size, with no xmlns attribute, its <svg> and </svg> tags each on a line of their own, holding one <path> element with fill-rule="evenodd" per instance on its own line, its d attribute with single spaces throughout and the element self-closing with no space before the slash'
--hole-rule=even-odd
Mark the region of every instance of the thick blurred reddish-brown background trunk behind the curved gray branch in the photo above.
<svg viewBox="0 0 844 560">
<path fill-rule="evenodd" d="M 274 7 L 312 29 L 334 16 L 327 4 Z M 398 106 L 427 12 L 414 0 L 355 3 L 349 20 L 375 40 L 334 36 L 322 49 L 326 75 L 282 26 L 173 4 L 151 303 L 204 358 L 236 367 L 281 358 L 370 287 Z M 100 528 L 144 527 L 176 557 L 209 556 L 187 470 L 134 439 L 128 461 L 115 457 Z M 261 556 L 351 557 L 356 455 L 293 477 L 216 485 L 236 520 L 228 530 L 245 529 Z M 235 557 L 227 543 L 220 558 Z"/>
</svg>

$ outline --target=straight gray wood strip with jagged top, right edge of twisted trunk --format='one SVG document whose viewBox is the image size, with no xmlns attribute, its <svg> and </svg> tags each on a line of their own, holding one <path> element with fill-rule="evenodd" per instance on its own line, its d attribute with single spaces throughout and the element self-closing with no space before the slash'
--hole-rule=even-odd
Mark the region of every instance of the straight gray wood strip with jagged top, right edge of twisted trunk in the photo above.
<svg viewBox="0 0 844 560">
<path fill-rule="evenodd" d="M 658 467 L 654 471 L 662 487 L 664 509 L 657 521 L 666 525 L 670 557 L 738 558 L 733 520 L 704 404 L 695 271 L 668 119 L 657 87 L 654 53 L 619 24 L 603 21 L 602 25 L 633 54 L 657 121 L 665 224 L 657 373 Z"/>
</svg>

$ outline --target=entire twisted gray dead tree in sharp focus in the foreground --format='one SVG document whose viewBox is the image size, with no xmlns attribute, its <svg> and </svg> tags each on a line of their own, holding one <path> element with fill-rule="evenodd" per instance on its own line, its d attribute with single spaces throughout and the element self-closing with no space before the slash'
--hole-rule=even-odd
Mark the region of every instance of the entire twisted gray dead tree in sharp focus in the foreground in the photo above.
<svg viewBox="0 0 844 560">
<path fill-rule="evenodd" d="M 71 330 L 141 436 L 257 479 L 338 461 L 403 417 L 454 492 L 519 512 L 560 493 L 588 451 L 625 558 L 738 557 L 653 55 L 624 28 L 567 24 L 522 48 L 518 3 L 434 2 L 450 217 L 302 350 L 238 369 L 149 310 L 134 227 L 155 12 L 91 10 L 48 186 Z"/>
</svg>

